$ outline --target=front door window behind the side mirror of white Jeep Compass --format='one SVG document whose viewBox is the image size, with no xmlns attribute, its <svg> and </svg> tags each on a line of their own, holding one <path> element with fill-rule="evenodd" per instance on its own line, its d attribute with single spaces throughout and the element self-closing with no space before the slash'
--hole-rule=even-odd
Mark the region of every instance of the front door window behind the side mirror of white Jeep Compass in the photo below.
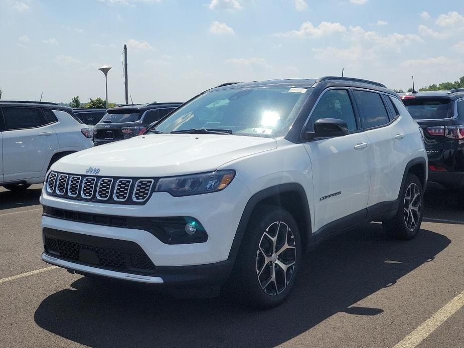
<svg viewBox="0 0 464 348">
<path fill-rule="evenodd" d="M 321 118 L 338 118 L 348 125 L 348 131 L 356 130 L 356 118 L 346 89 L 325 92 L 311 114 L 312 124 Z"/>
</svg>

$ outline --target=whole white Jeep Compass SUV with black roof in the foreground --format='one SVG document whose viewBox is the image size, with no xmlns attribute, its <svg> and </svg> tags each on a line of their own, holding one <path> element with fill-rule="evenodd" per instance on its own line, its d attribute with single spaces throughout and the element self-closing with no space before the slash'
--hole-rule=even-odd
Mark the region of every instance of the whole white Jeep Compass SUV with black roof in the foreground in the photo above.
<svg viewBox="0 0 464 348">
<path fill-rule="evenodd" d="M 397 94 L 353 78 L 229 83 L 48 173 L 42 259 L 281 303 L 305 249 L 366 221 L 413 238 L 427 155 Z"/>
</svg>

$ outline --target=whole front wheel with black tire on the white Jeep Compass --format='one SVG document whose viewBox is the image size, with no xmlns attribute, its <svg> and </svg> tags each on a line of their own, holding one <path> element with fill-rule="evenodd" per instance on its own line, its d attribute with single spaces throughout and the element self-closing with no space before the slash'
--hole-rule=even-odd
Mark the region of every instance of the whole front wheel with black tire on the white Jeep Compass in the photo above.
<svg viewBox="0 0 464 348">
<path fill-rule="evenodd" d="M 253 307 L 279 305 L 294 287 L 301 248 L 298 226 L 290 213 L 274 206 L 258 208 L 243 236 L 232 286 Z"/>
</svg>

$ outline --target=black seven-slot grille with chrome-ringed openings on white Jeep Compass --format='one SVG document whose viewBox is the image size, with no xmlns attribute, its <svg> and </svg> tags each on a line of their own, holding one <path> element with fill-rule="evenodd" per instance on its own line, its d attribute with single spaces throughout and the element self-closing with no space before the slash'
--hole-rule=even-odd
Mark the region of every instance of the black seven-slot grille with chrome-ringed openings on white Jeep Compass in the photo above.
<svg viewBox="0 0 464 348">
<path fill-rule="evenodd" d="M 157 179 L 80 176 L 50 172 L 46 190 L 50 196 L 110 204 L 144 205 Z"/>
</svg>

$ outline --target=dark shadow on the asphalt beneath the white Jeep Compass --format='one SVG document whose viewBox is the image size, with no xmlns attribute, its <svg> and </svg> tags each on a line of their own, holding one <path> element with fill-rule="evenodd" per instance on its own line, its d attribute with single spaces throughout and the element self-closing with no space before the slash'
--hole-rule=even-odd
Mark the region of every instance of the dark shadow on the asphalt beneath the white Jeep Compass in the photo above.
<svg viewBox="0 0 464 348">
<path fill-rule="evenodd" d="M 81 277 L 45 298 L 34 319 L 50 332 L 96 347 L 270 347 L 337 312 L 382 313 L 382 308 L 352 305 L 394 286 L 449 243 L 427 230 L 411 241 L 397 241 L 387 238 L 380 224 L 367 224 L 308 253 L 287 301 L 265 311 L 249 309 L 226 294 L 175 299 L 145 284 Z"/>
</svg>

